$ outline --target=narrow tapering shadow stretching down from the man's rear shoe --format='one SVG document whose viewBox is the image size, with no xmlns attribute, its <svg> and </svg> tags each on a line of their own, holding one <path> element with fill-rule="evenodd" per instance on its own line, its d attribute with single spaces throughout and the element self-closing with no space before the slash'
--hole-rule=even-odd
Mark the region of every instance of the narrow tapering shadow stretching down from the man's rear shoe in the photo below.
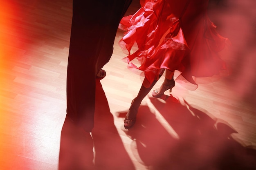
<svg viewBox="0 0 256 170">
<path fill-rule="evenodd" d="M 96 86 L 96 107 L 92 138 L 98 170 L 135 170 L 110 113 L 101 83 Z"/>
</svg>

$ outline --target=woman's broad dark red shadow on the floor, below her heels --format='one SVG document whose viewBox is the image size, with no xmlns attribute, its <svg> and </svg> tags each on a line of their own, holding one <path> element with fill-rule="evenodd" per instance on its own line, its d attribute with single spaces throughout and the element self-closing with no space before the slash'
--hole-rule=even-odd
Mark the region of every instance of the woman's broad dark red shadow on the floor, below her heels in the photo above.
<svg viewBox="0 0 256 170">
<path fill-rule="evenodd" d="M 236 130 L 225 121 L 174 97 L 165 104 L 150 100 L 164 121 L 160 123 L 148 107 L 141 106 L 136 125 L 126 131 L 148 169 L 255 170 L 256 151 L 235 141 L 231 134 Z"/>
</svg>

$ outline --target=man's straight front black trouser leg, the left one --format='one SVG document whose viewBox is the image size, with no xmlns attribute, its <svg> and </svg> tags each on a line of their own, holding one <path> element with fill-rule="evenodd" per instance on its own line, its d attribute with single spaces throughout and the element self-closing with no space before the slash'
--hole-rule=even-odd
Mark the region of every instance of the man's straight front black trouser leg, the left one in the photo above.
<svg viewBox="0 0 256 170">
<path fill-rule="evenodd" d="M 87 132 L 93 128 L 95 64 L 99 55 L 100 13 L 97 0 L 73 0 L 67 64 L 67 116 Z M 96 15 L 92 15 L 96 13 Z"/>
</svg>

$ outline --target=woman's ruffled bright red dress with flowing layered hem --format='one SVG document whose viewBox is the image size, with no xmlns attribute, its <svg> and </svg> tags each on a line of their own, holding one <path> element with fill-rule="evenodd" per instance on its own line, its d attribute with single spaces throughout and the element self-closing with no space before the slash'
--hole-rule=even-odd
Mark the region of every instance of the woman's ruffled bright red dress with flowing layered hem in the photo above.
<svg viewBox="0 0 256 170">
<path fill-rule="evenodd" d="M 197 84 L 192 77 L 218 75 L 226 68 L 218 52 L 225 47 L 227 38 L 220 36 L 209 20 L 208 0 L 140 3 L 141 9 L 121 20 L 119 29 L 126 32 L 119 45 L 129 52 L 124 58 L 128 66 L 144 71 L 148 85 L 168 69 L 180 71 L 176 81 L 189 82 L 194 90 Z M 133 46 L 138 50 L 131 53 Z M 132 63 L 135 59 L 139 66 Z"/>
</svg>

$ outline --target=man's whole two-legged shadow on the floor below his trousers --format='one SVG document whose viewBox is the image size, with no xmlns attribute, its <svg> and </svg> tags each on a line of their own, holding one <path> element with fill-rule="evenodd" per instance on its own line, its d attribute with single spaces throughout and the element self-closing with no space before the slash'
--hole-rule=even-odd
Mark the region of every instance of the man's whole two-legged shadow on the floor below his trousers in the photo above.
<svg viewBox="0 0 256 170">
<path fill-rule="evenodd" d="M 66 118 L 61 132 L 59 170 L 135 170 L 99 81 L 91 135 Z"/>
</svg>

